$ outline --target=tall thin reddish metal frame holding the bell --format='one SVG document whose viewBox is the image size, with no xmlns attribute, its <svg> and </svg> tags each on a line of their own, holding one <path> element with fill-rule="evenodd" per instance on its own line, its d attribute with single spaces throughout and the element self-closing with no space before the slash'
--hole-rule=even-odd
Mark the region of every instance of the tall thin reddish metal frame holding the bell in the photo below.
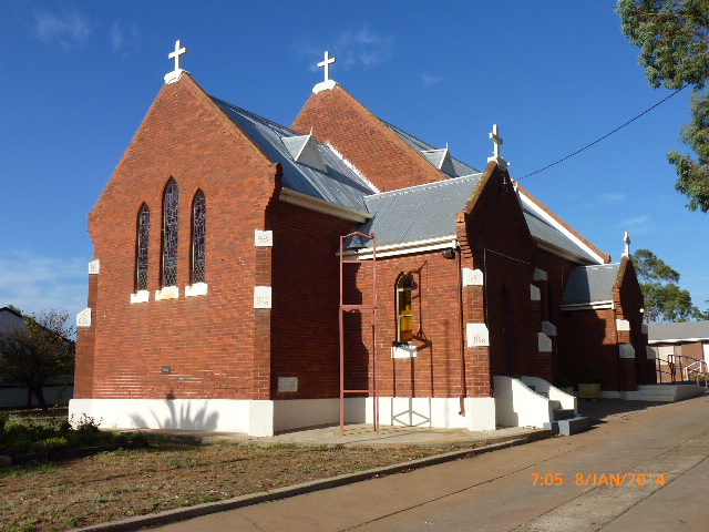
<svg viewBox="0 0 709 532">
<path fill-rule="evenodd" d="M 371 305 L 350 305 L 345 303 L 345 279 L 343 270 L 346 264 L 364 264 L 369 260 L 362 259 L 346 259 L 345 258 L 345 243 L 348 238 L 357 238 L 361 241 L 364 237 L 372 241 L 372 296 Z M 350 246 L 351 247 L 351 246 Z M 346 390 L 345 389 L 345 314 L 346 313 L 360 313 L 369 314 L 372 319 L 372 387 L 366 390 Z M 377 351 L 377 237 L 372 233 L 367 235 L 364 233 L 354 232 L 345 236 L 340 236 L 340 433 L 345 433 L 345 393 L 370 393 L 374 402 L 374 431 L 379 432 L 379 385 L 377 381 L 379 369 L 379 352 Z M 368 378 L 369 382 L 369 378 Z M 369 385 L 368 385 L 369 386 Z"/>
</svg>

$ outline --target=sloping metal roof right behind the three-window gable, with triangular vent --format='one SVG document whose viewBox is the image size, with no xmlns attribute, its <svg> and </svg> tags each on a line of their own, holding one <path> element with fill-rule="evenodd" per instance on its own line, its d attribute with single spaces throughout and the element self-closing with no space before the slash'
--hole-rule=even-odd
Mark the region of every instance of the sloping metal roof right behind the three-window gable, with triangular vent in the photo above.
<svg viewBox="0 0 709 532">
<path fill-rule="evenodd" d="M 328 146 L 317 144 L 320 157 L 327 166 L 327 173 L 298 164 L 292 160 L 282 139 L 301 136 L 299 133 L 217 98 L 212 99 L 270 161 L 280 163 L 284 168 L 284 187 L 346 208 L 367 211 L 363 198 L 376 191 Z"/>
</svg>

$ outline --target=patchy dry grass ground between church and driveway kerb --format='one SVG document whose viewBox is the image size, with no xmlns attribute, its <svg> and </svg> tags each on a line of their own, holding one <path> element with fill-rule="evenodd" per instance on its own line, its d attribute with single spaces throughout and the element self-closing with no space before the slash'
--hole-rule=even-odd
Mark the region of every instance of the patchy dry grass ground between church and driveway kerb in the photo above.
<svg viewBox="0 0 709 532">
<path fill-rule="evenodd" d="M 4 467 L 0 468 L 0 530 L 68 530 L 451 450 L 157 441 L 147 449 Z"/>
</svg>

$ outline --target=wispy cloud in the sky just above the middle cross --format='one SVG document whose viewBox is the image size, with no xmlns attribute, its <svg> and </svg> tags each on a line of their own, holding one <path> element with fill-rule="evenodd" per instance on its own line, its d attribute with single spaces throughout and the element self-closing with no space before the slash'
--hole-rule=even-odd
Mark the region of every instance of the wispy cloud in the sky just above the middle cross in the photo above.
<svg viewBox="0 0 709 532">
<path fill-rule="evenodd" d="M 342 32 L 325 45 L 315 45 L 309 40 L 305 40 L 300 43 L 299 50 L 301 55 L 318 58 L 329 50 L 330 57 L 337 59 L 338 65 L 350 70 L 356 66 L 377 66 L 388 61 L 393 55 L 394 41 L 393 34 L 382 35 L 364 25 L 359 30 Z M 310 70 L 318 70 L 315 62 L 310 64 Z"/>
</svg>

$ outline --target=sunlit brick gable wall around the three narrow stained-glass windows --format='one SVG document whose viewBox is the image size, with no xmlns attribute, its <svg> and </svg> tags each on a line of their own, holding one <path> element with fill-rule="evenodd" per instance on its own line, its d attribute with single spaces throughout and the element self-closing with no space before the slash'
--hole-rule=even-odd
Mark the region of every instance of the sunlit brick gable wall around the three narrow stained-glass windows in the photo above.
<svg viewBox="0 0 709 532">
<path fill-rule="evenodd" d="M 79 369 L 80 391 L 95 398 L 268 396 L 264 368 L 270 364 L 265 359 L 269 340 L 264 344 L 263 335 L 270 313 L 253 309 L 257 273 L 268 267 L 268 258 L 257 266 L 254 229 L 264 228 L 277 174 L 278 167 L 187 74 L 163 86 L 90 214 L 101 274 L 92 326 L 93 390 Z M 181 297 L 156 301 L 162 200 L 171 176 L 179 185 Z M 207 204 L 208 295 L 187 298 L 191 208 L 197 190 Z M 136 215 L 143 202 L 151 209 L 151 300 L 131 305 Z M 80 354 L 90 351 L 89 337 L 89 331 L 80 334 Z M 163 366 L 171 366 L 172 375 L 162 375 Z"/>
</svg>

